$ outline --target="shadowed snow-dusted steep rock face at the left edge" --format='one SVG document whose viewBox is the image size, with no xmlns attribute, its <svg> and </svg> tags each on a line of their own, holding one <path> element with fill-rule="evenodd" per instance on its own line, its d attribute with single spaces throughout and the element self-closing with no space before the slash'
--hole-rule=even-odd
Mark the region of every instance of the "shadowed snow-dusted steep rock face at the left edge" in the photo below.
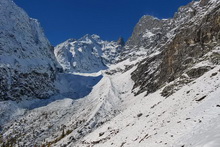
<svg viewBox="0 0 220 147">
<path fill-rule="evenodd" d="M 57 63 L 39 23 L 11 0 L 0 16 L 0 100 L 52 95 Z"/>
</svg>

